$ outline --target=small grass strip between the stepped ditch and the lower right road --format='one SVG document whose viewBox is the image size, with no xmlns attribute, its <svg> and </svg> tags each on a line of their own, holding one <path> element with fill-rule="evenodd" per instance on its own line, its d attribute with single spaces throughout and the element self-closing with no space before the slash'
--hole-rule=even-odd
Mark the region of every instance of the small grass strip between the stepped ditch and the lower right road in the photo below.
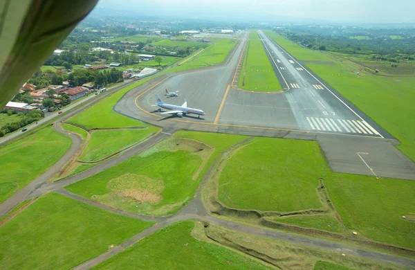
<svg viewBox="0 0 415 270">
<path fill-rule="evenodd" d="M 282 222 L 304 228 L 318 228 L 319 230 L 342 233 L 344 230 L 331 215 L 294 215 L 291 217 L 277 217 L 276 222 Z"/>
</svg>

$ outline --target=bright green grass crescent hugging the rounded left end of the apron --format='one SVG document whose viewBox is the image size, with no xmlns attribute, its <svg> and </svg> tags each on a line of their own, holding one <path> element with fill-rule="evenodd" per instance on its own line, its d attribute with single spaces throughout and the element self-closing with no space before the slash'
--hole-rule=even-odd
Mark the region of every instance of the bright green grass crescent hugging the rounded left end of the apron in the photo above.
<svg viewBox="0 0 415 270">
<path fill-rule="evenodd" d="M 116 105 L 118 100 L 120 100 L 120 98 L 122 98 L 125 93 L 144 82 L 147 82 L 147 80 L 142 80 L 139 83 L 131 84 L 130 86 L 125 87 L 116 93 L 113 93 L 111 96 L 104 98 L 97 104 L 89 107 L 88 109 L 82 111 L 80 114 L 77 114 L 73 118 L 69 119 L 68 123 L 80 125 L 86 129 L 147 126 L 147 124 L 142 123 L 140 120 L 123 116 L 113 110 L 113 106 Z"/>
</svg>

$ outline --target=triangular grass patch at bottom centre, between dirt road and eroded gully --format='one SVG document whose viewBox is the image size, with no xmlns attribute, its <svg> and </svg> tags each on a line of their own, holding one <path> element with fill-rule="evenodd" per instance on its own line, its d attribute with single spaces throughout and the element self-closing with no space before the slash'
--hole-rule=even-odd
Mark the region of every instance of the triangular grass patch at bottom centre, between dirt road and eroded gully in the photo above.
<svg viewBox="0 0 415 270">
<path fill-rule="evenodd" d="M 173 224 L 93 269 L 268 269 L 223 246 L 196 240 L 194 222 Z"/>
</svg>

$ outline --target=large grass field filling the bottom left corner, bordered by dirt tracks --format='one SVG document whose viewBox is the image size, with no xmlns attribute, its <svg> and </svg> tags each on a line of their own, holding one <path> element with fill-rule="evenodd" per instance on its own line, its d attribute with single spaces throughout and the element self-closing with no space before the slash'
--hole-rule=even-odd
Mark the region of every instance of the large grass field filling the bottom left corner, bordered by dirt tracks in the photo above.
<svg viewBox="0 0 415 270">
<path fill-rule="evenodd" d="M 1 268 L 71 269 L 149 226 L 49 193 L 0 227 Z"/>
</svg>

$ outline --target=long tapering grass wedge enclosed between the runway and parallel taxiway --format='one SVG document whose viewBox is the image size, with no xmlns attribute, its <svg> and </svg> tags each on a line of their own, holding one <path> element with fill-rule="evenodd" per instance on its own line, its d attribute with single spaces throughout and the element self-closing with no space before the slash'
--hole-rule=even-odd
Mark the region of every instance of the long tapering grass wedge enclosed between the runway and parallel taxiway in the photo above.
<svg viewBox="0 0 415 270">
<path fill-rule="evenodd" d="M 282 89 L 278 78 L 275 75 L 273 66 L 266 55 L 264 46 L 259 40 L 252 39 L 248 44 L 248 57 L 243 61 L 243 71 L 239 78 L 239 87 L 251 91 L 279 91 Z"/>
</svg>

